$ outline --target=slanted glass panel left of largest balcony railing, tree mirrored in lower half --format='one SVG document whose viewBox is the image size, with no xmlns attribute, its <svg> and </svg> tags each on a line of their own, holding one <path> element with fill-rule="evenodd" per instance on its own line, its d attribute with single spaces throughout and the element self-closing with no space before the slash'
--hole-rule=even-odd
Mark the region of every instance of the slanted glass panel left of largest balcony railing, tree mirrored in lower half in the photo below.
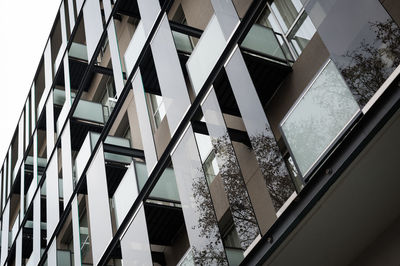
<svg viewBox="0 0 400 266">
<path fill-rule="evenodd" d="M 294 192 L 294 186 L 239 49 L 232 54 L 225 70 L 272 203 L 278 211 Z"/>
</svg>

